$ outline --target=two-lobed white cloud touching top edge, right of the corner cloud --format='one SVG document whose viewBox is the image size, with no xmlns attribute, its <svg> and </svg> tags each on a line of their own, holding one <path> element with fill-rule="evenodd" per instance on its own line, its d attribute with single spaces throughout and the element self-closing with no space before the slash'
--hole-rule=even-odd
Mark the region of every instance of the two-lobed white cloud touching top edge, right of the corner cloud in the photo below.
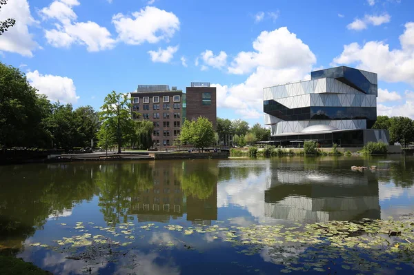
<svg viewBox="0 0 414 275">
<path fill-rule="evenodd" d="M 55 24 L 55 29 L 45 30 L 48 43 L 57 48 L 69 48 L 72 44 L 86 45 L 88 52 L 114 48 L 116 41 L 107 28 L 92 21 L 73 22 L 77 19 L 77 14 L 72 8 L 77 5 L 77 0 L 61 0 L 54 1 L 48 8 L 41 10 L 43 19 L 57 19 L 61 22 Z"/>
</svg>

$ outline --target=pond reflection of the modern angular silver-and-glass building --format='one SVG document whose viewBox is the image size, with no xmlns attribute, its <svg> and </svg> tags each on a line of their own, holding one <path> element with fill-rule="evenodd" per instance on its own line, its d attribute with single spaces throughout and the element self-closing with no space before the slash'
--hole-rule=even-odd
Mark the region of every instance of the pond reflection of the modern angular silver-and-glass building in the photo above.
<svg viewBox="0 0 414 275">
<path fill-rule="evenodd" d="M 380 218 L 374 174 L 331 175 L 275 171 L 265 191 L 265 216 L 290 221 L 325 222 Z"/>
</svg>

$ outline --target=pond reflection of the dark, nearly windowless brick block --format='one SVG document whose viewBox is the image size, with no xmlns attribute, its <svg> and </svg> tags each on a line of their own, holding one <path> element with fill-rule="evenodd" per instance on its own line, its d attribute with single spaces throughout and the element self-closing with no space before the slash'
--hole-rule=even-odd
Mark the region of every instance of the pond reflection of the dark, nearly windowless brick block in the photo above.
<svg viewBox="0 0 414 275">
<path fill-rule="evenodd" d="M 217 183 L 208 198 L 201 200 L 197 196 L 187 197 L 187 221 L 193 224 L 210 225 L 217 220 Z"/>
</svg>

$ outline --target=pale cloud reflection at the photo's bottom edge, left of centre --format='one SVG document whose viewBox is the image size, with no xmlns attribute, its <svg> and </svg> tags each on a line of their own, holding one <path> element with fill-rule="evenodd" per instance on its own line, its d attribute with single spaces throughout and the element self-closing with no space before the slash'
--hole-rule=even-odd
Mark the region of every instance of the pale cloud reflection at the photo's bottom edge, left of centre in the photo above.
<svg viewBox="0 0 414 275">
<path fill-rule="evenodd" d="M 164 258 L 157 253 L 144 254 L 137 250 L 128 253 L 128 258 L 120 258 L 117 269 L 113 274 L 151 274 L 166 275 L 180 274 L 179 267 L 172 261 L 172 258 Z M 131 261 L 131 258 L 134 261 Z M 163 262 L 164 264 L 159 264 Z"/>
</svg>

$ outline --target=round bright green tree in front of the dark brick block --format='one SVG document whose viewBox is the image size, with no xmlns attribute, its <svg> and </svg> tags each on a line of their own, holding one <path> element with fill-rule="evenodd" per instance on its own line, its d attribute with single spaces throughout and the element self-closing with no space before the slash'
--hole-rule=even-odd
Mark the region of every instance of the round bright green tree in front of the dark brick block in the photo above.
<svg viewBox="0 0 414 275">
<path fill-rule="evenodd" d="M 197 121 L 184 121 L 179 139 L 182 143 L 190 143 L 199 151 L 210 146 L 214 140 L 213 123 L 200 116 Z"/>
</svg>

